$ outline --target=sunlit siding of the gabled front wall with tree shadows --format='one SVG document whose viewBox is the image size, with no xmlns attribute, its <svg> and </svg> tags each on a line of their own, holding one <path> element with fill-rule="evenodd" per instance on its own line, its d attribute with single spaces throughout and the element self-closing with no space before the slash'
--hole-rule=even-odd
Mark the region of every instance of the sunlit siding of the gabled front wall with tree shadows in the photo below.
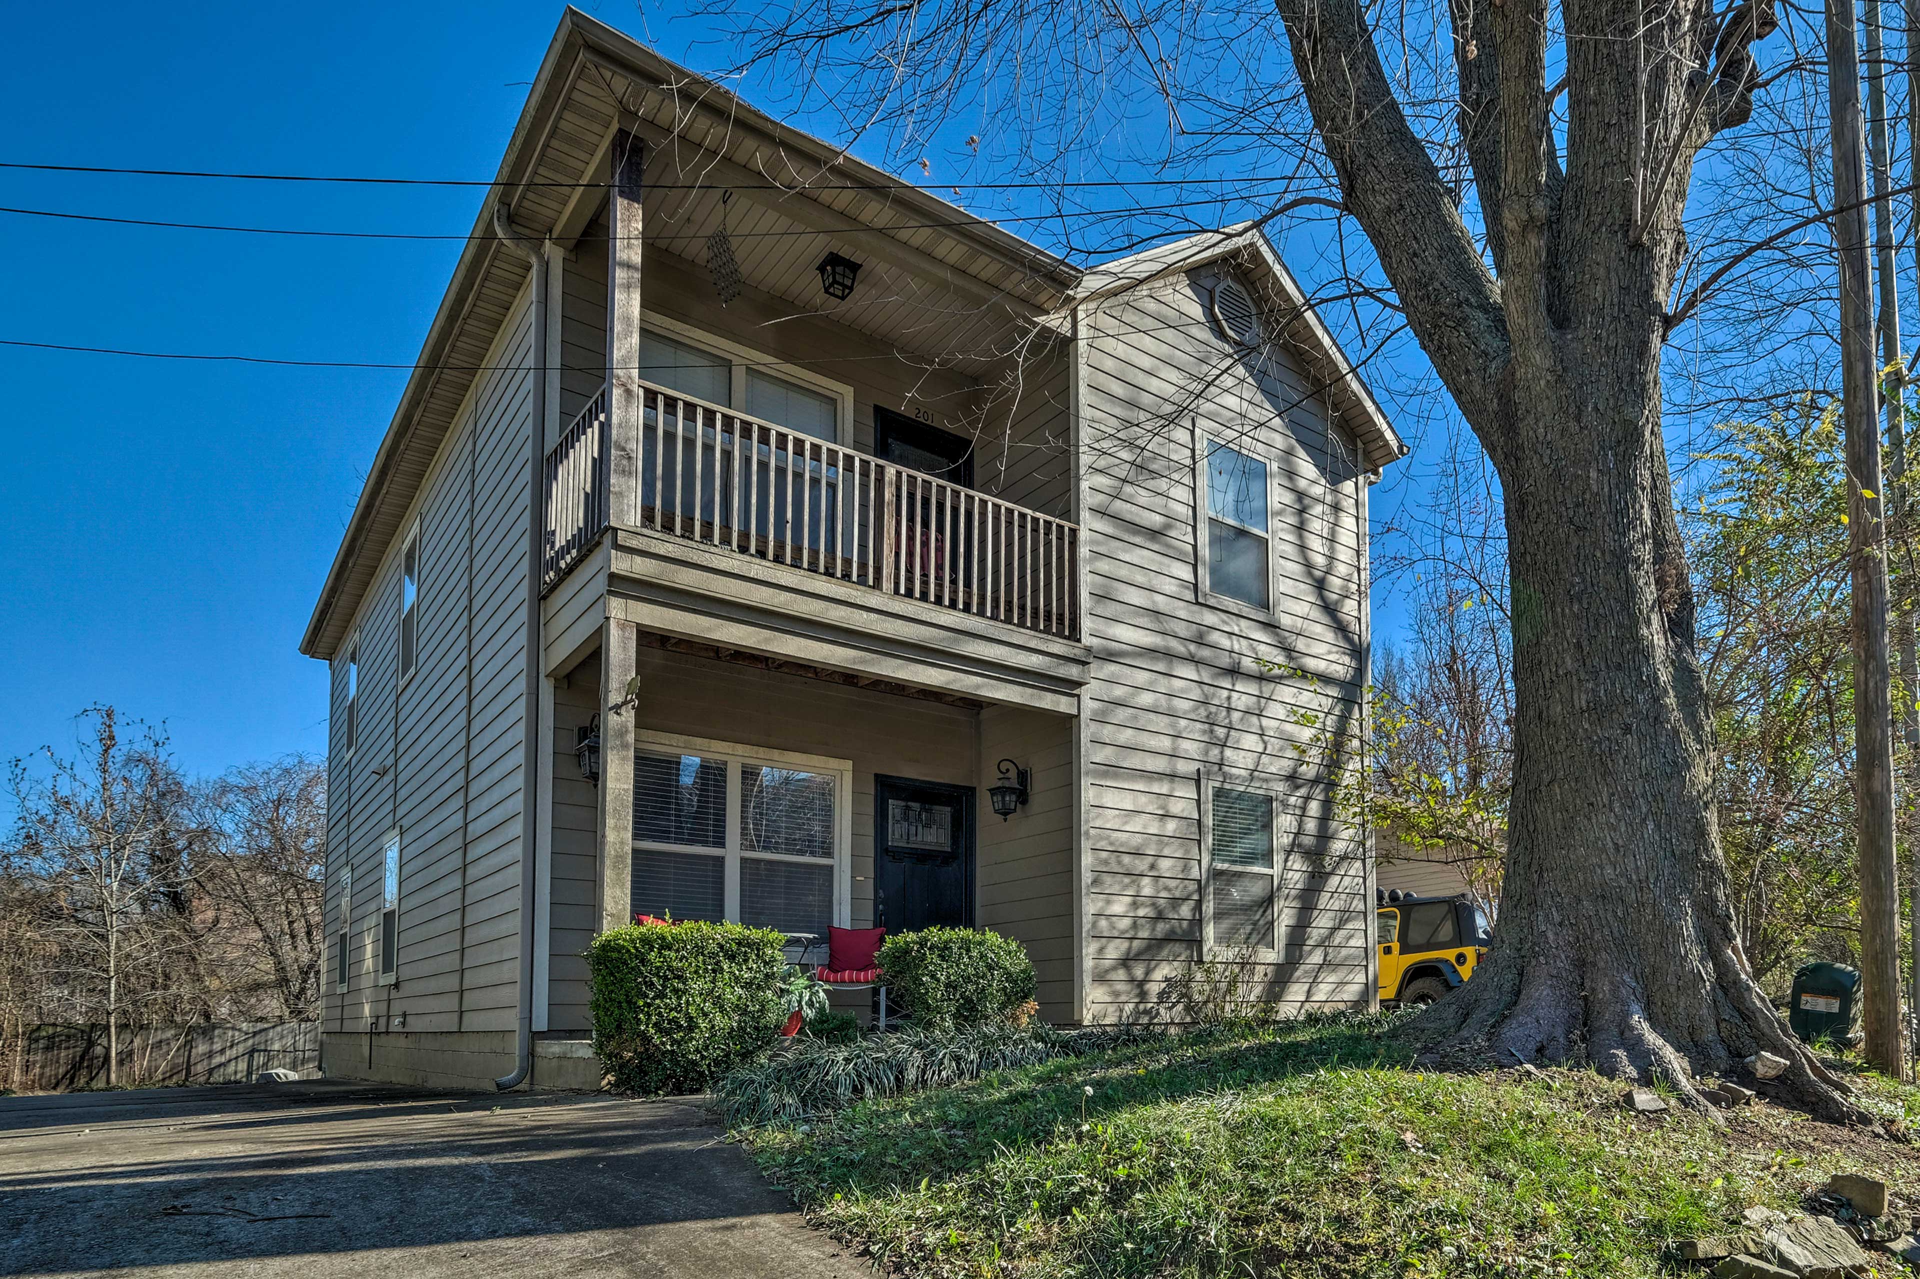
<svg viewBox="0 0 1920 1279">
<path fill-rule="evenodd" d="M 1089 1020 L 1152 1002 L 1200 954 L 1202 770 L 1279 797 L 1267 995 L 1290 1008 L 1367 999 L 1363 847 L 1332 814 L 1317 730 L 1298 722 L 1359 724 L 1363 480 L 1338 426 L 1329 444 L 1292 353 L 1248 353 L 1213 330 L 1208 284 L 1175 277 L 1081 319 Z M 1267 465 L 1269 616 L 1202 597 L 1206 438 Z"/>
</svg>

